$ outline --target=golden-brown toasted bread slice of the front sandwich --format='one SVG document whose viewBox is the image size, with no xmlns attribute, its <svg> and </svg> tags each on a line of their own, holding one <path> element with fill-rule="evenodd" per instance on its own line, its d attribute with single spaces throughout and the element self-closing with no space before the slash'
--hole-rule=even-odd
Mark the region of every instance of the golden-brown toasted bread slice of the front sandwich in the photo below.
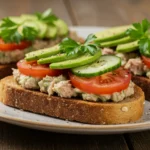
<svg viewBox="0 0 150 150">
<path fill-rule="evenodd" d="M 9 76 L 0 82 L 0 100 L 12 107 L 66 120 L 90 124 L 120 124 L 136 121 L 142 116 L 144 93 L 135 86 L 135 94 L 122 102 L 87 102 L 26 90 Z"/>
</svg>

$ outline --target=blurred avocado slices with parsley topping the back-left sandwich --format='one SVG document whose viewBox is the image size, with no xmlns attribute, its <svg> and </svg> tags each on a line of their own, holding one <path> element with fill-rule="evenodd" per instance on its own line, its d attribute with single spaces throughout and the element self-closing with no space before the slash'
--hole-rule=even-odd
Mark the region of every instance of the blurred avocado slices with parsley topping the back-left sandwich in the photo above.
<svg viewBox="0 0 150 150">
<path fill-rule="evenodd" d="M 33 41 L 36 38 L 64 37 L 68 31 L 67 24 L 56 17 L 51 9 L 43 13 L 6 17 L 0 24 L 0 37 L 9 43 L 20 43 L 22 40 Z"/>
</svg>

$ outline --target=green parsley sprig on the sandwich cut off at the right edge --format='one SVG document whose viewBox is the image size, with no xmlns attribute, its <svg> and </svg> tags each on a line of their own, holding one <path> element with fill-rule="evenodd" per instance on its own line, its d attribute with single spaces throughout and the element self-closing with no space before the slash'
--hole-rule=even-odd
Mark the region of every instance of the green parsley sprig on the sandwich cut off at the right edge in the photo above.
<svg viewBox="0 0 150 150">
<path fill-rule="evenodd" d="M 141 54 L 150 57 L 150 22 L 144 19 L 141 23 L 133 23 L 133 27 L 134 28 L 129 28 L 126 34 L 138 40 Z"/>
</svg>

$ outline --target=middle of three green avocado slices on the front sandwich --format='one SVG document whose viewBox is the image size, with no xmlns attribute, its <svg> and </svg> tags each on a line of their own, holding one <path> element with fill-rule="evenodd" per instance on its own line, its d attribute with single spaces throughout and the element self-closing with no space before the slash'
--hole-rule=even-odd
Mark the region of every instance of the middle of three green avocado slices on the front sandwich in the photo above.
<svg viewBox="0 0 150 150">
<path fill-rule="evenodd" d="M 51 57 L 47 58 L 41 58 L 38 60 L 38 64 L 48 64 L 48 63 L 55 63 L 55 62 L 61 62 L 69 59 L 73 59 L 78 57 L 79 55 L 73 55 L 73 56 L 67 56 L 66 54 L 57 54 Z"/>
</svg>

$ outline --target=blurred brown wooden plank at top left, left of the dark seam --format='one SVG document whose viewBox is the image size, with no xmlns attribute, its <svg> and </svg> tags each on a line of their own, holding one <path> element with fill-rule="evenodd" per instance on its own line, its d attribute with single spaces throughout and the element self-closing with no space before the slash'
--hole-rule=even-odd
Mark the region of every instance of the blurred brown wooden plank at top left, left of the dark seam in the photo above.
<svg viewBox="0 0 150 150">
<path fill-rule="evenodd" d="M 42 12 L 48 8 L 52 8 L 57 16 L 65 20 L 68 25 L 72 25 L 63 0 L 0 0 L 0 18 Z"/>
</svg>

